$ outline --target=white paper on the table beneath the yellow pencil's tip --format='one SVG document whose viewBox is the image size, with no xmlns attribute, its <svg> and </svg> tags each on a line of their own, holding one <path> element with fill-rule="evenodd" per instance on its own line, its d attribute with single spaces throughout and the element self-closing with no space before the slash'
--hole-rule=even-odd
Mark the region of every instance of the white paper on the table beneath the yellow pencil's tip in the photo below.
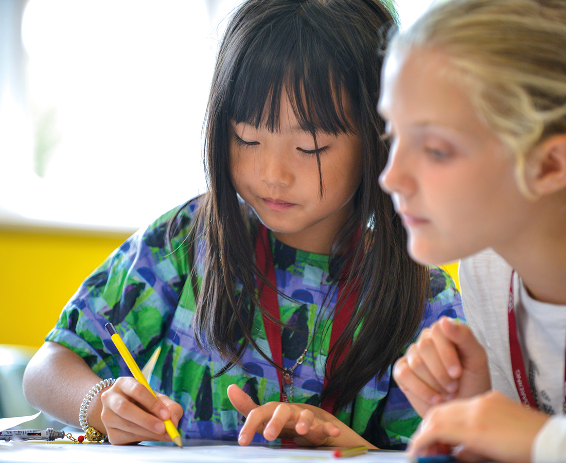
<svg viewBox="0 0 566 463">
<path fill-rule="evenodd" d="M 98 444 L 0 444 L 0 461 L 9 463 L 309 463 L 340 461 L 352 463 L 410 463 L 405 452 L 368 452 L 342 460 L 332 450 L 268 448 L 259 446 L 211 445 L 206 447 L 156 447 L 145 445 Z"/>
</svg>

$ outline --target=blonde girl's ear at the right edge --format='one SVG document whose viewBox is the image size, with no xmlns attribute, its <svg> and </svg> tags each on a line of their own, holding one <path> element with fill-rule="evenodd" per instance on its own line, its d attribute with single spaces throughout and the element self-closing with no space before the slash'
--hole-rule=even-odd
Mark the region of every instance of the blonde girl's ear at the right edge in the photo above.
<svg viewBox="0 0 566 463">
<path fill-rule="evenodd" d="M 526 182 L 536 196 L 566 188 L 566 134 L 544 140 L 530 153 L 526 164 Z"/>
</svg>

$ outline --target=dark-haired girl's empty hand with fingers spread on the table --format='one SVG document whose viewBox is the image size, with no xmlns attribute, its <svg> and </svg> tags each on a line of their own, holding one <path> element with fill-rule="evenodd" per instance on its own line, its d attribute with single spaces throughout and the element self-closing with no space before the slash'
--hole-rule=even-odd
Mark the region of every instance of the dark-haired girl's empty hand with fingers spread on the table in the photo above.
<svg viewBox="0 0 566 463">
<path fill-rule="evenodd" d="M 313 405 L 268 402 L 256 405 L 236 384 L 228 387 L 235 409 L 246 417 L 238 442 L 248 445 L 259 432 L 267 440 L 293 439 L 297 445 L 368 445 L 365 439 L 327 411 Z"/>
</svg>

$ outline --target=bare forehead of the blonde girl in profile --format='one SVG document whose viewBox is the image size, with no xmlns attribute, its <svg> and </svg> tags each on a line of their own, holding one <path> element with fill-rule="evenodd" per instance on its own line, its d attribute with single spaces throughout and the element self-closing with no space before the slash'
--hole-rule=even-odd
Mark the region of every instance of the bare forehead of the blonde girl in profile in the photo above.
<svg viewBox="0 0 566 463">
<path fill-rule="evenodd" d="M 449 136 L 469 151 L 501 140 L 473 101 L 473 78 L 439 50 L 396 51 L 384 63 L 378 108 L 393 134 Z"/>
</svg>

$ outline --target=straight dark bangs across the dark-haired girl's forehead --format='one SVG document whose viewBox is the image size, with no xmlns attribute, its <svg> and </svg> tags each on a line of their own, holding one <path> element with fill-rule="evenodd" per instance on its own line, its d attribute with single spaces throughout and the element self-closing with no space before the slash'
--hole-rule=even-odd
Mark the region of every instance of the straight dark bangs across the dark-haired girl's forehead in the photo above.
<svg viewBox="0 0 566 463">
<path fill-rule="evenodd" d="M 292 32 L 258 35 L 230 76 L 228 115 L 237 123 L 280 128 L 281 97 L 285 91 L 295 117 L 305 131 L 337 135 L 354 132 L 352 79 L 336 62 L 336 50 L 321 41 L 295 37 Z"/>
</svg>

